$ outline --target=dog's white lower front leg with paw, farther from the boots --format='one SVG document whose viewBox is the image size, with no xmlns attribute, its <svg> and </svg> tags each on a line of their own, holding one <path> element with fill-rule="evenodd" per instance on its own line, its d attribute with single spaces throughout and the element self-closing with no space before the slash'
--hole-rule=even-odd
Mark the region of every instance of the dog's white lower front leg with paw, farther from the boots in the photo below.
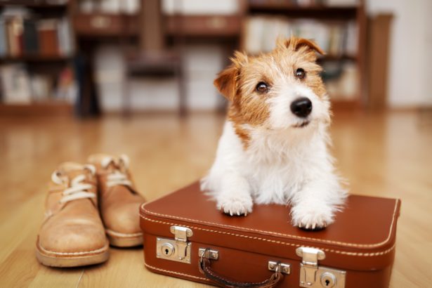
<svg viewBox="0 0 432 288">
<path fill-rule="evenodd" d="M 292 198 L 292 224 L 306 229 L 326 227 L 333 223 L 343 197 L 336 179 L 311 181 Z"/>
</svg>

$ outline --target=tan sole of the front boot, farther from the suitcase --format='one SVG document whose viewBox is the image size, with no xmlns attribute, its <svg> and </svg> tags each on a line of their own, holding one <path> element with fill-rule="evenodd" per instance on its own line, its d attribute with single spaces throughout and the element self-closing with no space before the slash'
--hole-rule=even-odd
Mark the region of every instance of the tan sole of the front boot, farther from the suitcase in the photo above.
<svg viewBox="0 0 432 288">
<path fill-rule="evenodd" d="M 50 267 L 77 267 L 103 263 L 110 257 L 109 246 L 94 251 L 60 253 L 55 251 L 46 251 L 39 246 L 37 242 L 36 258 L 37 260 Z"/>
</svg>

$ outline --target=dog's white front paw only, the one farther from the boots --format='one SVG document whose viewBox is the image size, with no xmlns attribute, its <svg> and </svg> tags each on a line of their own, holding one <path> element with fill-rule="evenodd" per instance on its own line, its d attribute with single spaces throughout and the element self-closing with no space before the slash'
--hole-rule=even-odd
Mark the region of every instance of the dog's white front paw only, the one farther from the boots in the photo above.
<svg viewBox="0 0 432 288">
<path fill-rule="evenodd" d="M 297 204 L 292 208 L 291 214 L 294 226 L 308 230 L 325 228 L 334 221 L 333 209 L 326 205 Z"/>
</svg>

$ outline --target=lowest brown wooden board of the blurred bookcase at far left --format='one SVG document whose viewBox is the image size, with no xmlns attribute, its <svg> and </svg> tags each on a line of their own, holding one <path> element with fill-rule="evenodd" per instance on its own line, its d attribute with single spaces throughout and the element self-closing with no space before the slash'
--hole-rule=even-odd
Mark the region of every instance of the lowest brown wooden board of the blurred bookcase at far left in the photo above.
<svg viewBox="0 0 432 288">
<path fill-rule="evenodd" d="M 5 104 L 0 103 L 1 117 L 72 117 L 73 106 L 70 103 L 51 101 L 30 104 Z"/>
</svg>

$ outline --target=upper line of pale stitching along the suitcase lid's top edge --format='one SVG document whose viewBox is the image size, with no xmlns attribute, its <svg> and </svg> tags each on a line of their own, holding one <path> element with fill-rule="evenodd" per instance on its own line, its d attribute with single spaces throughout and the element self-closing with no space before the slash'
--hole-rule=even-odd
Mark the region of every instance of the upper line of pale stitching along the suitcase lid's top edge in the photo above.
<svg viewBox="0 0 432 288">
<path fill-rule="evenodd" d="M 147 212 L 148 214 L 152 214 L 152 215 L 156 215 L 156 216 L 164 216 L 164 217 L 177 218 L 177 219 L 181 219 L 181 220 L 185 220 L 185 221 L 195 221 L 195 222 L 199 222 L 199 223 L 207 223 L 207 224 L 216 225 L 216 226 L 219 226 L 219 227 L 222 227 L 222 228 L 223 227 L 240 228 L 240 229 L 254 231 L 254 232 L 263 232 L 263 233 L 269 233 L 269 234 L 273 234 L 273 235 L 293 237 L 293 238 L 302 239 L 302 240 L 313 240 L 313 241 L 317 241 L 317 242 L 325 242 L 325 243 L 331 243 L 331 244 L 343 244 L 343 245 L 350 246 L 350 247 L 369 247 L 369 248 L 372 248 L 372 247 L 378 247 L 378 246 L 381 246 L 383 244 L 386 244 L 388 242 L 388 240 L 390 240 L 391 231 L 393 230 L 393 223 L 395 221 L 396 209 L 398 208 L 398 202 L 399 202 L 399 199 L 395 199 L 395 208 L 393 210 L 393 216 L 392 216 L 392 220 L 391 220 L 390 230 L 389 230 L 389 233 L 388 233 L 388 236 L 387 236 L 386 240 L 384 240 L 382 242 L 379 242 L 379 243 L 376 243 L 376 244 L 356 244 L 356 243 L 346 243 L 346 242 L 339 242 L 339 241 L 332 241 L 332 240 L 320 240 L 320 239 L 310 238 L 310 237 L 289 235 L 289 234 L 283 234 L 283 233 L 277 233 L 277 232 L 271 232 L 271 231 L 264 231 L 264 230 L 256 230 L 256 229 L 251 229 L 251 228 L 241 228 L 241 227 L 237 227 L 237 226 L 218 224 L 218 223 L 213 223 L 213 222 L 208 222 L 208 221 L 199 221 L 199 220 L 190 219 L 190 218 L 183 218 L 183 217 L 171 216 L 171 215 L 166 215 L 166 214 L 159 214 L 159 213 L 156 213 L 156 212 L 148 211 L 147 209 L 144 208 L 145 204 L 142 205 L 141 209 L 143 209 L 143 211 Z"/>
</svg>

